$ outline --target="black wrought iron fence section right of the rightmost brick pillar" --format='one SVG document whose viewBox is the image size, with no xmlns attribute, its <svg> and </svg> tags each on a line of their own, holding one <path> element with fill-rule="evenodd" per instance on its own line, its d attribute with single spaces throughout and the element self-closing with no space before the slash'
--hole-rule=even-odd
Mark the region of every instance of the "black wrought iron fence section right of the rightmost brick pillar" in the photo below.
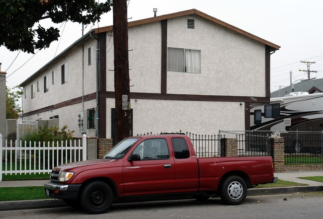
<svg viewBox="0 0 323 219">
<path fill-rule="evenodd" d="M 322 164 L 323 132 L 281 133 L 285 140 L 285 164 Z"/>
</svg>

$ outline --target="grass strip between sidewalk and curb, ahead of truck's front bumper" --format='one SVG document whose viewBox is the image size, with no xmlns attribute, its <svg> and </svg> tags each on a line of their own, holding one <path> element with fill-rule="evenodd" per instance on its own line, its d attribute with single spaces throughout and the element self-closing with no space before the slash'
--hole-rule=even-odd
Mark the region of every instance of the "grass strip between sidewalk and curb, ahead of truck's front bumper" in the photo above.
<svg viewBox="0 0 323 219">
<path fill-rule="evenodd" d="M 48 199 L 43 186 L 2 187 L 0 189 L 0 202 L 35 199 Z"/>
</svg>

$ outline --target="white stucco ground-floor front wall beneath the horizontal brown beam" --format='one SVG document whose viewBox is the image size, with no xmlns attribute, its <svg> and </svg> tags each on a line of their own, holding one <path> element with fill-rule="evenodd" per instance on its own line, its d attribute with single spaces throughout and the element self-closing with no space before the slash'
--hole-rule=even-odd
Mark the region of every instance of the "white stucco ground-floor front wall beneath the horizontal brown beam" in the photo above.
<svg viewBox="0 0 323 219">
<path fill-rule="evenodd" d="M 107 99 L 107 138 L 111 137 L 111 108 Z M 131 99 L 133 135 L 152 132 L 191 132 L 218 134 L 218 130 L 244 130 L 244 104 L 239 102 L 206 102 Z"/>
</svg>

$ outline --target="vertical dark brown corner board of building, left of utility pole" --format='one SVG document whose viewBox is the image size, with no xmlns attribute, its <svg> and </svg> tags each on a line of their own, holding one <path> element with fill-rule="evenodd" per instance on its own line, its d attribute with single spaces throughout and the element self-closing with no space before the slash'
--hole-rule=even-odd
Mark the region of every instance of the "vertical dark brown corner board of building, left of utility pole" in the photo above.
<svg viewBox="0 0 323 219">
<path fill-rule="evenodd" d="M 100 94 L 107 90 L 107 33 L 100 33 L 98 36 L 99 41 L 99 138 L 105 139 L 107 136 L 107 98 L 102 97 Z"/>
</svg>

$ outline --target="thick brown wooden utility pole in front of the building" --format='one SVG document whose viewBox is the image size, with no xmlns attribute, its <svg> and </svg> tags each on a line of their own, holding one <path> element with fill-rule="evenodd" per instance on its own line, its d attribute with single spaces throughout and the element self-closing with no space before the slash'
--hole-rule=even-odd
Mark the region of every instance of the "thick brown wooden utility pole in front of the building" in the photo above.
<svg viewBox="0 0 323 219">
<path fill-rule="evenodd" d="M 113 0 L 116 143 L 131 136 L 127 1 Z"/>
</svg>

